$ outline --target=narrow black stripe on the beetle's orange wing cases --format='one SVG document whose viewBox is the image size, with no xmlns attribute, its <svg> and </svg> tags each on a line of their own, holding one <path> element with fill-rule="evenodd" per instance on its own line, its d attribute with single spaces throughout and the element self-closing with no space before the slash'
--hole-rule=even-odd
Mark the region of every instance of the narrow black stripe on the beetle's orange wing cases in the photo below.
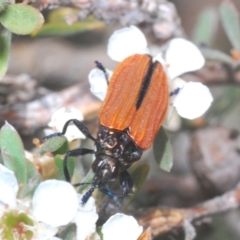
<svg viewBox="0 0 240 240">
<path fill-rule="evenodd" d="M 140 89 L 139 94 L 138 94 L 138 98 L 137 98 L 137 102 L 136 102 L 136 109 L 137 110 L 141 107 L 142 102 L 144 100 L 144 97 L 147 94 L 148 88 L 149 88 L 150 83 L 151 83 L 151 79 L 152 79 L 154 69 L 156 68 L 157 65 L 158 65 L 157 61 L 153 63 L 152 60 L 151 60 L 150 63 L 149 63 L 148 70 L 147 70 L 146 75 L 145 75 L 145 77 L 142 81 L 142 86 L 141 86 L 141 89 Z"/>
</svg>

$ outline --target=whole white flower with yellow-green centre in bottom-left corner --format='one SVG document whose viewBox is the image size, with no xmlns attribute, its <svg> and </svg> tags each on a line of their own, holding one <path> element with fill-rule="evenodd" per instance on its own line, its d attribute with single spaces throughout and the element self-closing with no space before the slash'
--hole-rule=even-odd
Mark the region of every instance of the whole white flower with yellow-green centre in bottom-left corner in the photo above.
<svg viewBox="0 0 240 240">
<path fill-rule="evenodd" d="M 77 240 L 95 231 L 98 215 L 93 198 L 81 207 L 82 196 L 70 183 L 47 180 L 36 188 L 32 201 L 18 199 L 14 173 L 0 164 L 0 187 L 0 239 L 19 239 L 24 231 L 26 240 L 53 240 L 58 228 L 70 222 L 77 225 Z"/>
</svg>

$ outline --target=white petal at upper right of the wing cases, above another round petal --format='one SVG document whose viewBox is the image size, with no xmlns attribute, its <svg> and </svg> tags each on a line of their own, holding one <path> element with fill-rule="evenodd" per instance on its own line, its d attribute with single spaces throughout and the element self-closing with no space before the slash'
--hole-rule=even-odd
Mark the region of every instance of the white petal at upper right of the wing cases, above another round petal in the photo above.
<svg viewBox="0 0 240 240">
<path fill-rule="evenodd" d="M 165 61 L 169 64 L 168 75 L 171 79 L 198 70 L 205 62 L 200 50 L 183 38 L 175 38 L 168 43 Z"/>
</svg>

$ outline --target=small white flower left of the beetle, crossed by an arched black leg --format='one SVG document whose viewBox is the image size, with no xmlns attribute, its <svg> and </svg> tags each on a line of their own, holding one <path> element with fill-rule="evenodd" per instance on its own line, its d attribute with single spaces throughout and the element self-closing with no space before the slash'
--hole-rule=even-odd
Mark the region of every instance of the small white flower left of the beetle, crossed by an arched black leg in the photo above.
<svg viewBox="0 0 240 240">
<path fill-rule="evenodd" d="M 54 131 L 62 132 L 64 124 L 70 119 L 83 120 L 83 114 L 76 108 L 60 108 L 57 110 L 48 123 L 48 126 L 53 128 Z M 52 133 L 52 132 L 51 132 Z M 47 134 L 50 134 L 48 132 Z M 85 135 L 74 125 L 70 124 L 67 128 L 65 137 L 71 142 L 74 139 L 85 139 Z"/>
</svg>

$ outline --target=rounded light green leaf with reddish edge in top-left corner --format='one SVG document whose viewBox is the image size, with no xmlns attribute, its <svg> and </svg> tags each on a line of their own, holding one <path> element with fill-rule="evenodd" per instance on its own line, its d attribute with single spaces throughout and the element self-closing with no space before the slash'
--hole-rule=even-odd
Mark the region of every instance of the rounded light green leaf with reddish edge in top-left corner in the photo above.
<svg viewBox="0 0 240 240">
<path fill-rule="evenodd" d="M 24 4 L 12 4 L 0 14 L 0 22 L 9 31 L 26 35 L 40 28 L 44 18 L 36 8 Z"/>
</svg>

